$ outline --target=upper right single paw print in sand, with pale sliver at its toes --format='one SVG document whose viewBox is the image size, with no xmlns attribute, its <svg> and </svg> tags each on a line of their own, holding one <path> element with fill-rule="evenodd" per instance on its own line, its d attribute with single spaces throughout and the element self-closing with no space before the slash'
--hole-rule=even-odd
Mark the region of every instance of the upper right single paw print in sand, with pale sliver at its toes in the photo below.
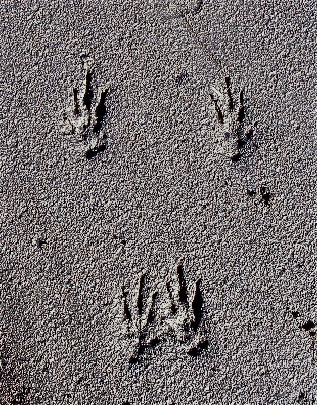
<svg viewBox="0 0 317 405">
<path fill-rule="evenodd" d="M 218 127 L 225 140 L 225 144 L 223 144 L 224 140 L 220 139 L 222 153 L 236 163 L 243 154 L 243 148 L 255 135 L 256 123 L 250 125 L 246 120 L 243 90 L 240 90 L 239 93 L 239 105 L 235 107 L 236 103 L 232 96 L 230 77 L 225 77 L 224 81 L 225 94 L 212 87 L 210 97 L 215 108 Z"/>
</svg>

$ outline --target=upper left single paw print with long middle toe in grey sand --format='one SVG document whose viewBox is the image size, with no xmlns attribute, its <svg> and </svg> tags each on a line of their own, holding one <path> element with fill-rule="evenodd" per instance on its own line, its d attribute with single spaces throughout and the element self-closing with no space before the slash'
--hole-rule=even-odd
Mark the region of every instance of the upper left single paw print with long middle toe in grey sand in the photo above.
<svg viewBox="0 0 317 405">
<path fill-rule="evenodd" d="M 91 62 L 83 61 L 85 72 L 82 89 L 73 89 L 73 106 L 70 114 L 64 114 L 64 121 L 70 126 L 70 133 L 83 142 L 87 159 L 92 159 L 106 149 L 106 134 L 103 121 L 106 115 L 106 99 L 109 87 L 99 89 L 97 97 L 93 90 L 94 70 Z M 98 102 L 95 102 L 95 99 Z"/>
</svg>

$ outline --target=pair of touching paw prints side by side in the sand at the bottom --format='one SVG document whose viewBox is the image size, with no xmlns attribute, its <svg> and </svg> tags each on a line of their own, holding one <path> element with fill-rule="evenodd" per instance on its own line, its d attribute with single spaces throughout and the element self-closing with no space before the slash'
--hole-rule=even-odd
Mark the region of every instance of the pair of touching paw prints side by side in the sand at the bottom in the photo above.
<svg viewBox="0 0 317 405">
<path fill-rule="evenodd" d="M 147 348 L 154 348 L 160 343 L 170 340 L 180 343 L 186 352 L 196 357 L 208 345 L 205 331 L 200 333 L 200 325 L 203 314 L 203 297 L 200 289 L 200 279 L 195 282 L 192 294 L 189 294 L 184 268 L 179 264 L 176 268 L 178 286 L 171 287 L 166 282 L 167 305 L 165 301 L 164 315 L 158 316 L 157 298 L 158 291 L 149 295 L 145 300 L 144 283 L 145 275 L 140 277 L 137 301 L 130 310 L 128 305 L 128 293 L 122 287 L 123 309 L 128 325 L 128 335 L 133 338 L 133 349 L 129 363 L 137 363 Z"/>
</svg>

